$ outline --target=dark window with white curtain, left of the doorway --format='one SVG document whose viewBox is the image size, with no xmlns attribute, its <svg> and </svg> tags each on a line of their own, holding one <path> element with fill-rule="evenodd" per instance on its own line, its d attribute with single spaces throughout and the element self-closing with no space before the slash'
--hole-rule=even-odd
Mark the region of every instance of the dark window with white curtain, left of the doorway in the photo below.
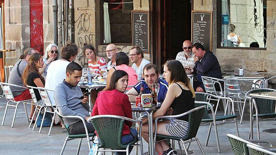
<svg viewBox="0 0 276 155">
<path fill-rule="evenodd" d="M 103 0 L 102 43 L 131 44 L 133 0 Z"/>
</svg>

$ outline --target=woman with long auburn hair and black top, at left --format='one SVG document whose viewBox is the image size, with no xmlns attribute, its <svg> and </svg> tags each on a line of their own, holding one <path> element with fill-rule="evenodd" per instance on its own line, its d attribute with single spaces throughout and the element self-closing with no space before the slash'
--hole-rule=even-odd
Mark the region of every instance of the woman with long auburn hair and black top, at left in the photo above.
<svg viewBox="0 0 276 155">
<path fill-rule="evenodd" d="M 22 74 L 22 81 L 25 85 L 33 87 L 44 87 L 45 80 L 40 74 L 39 69 L 44 65 L 42 55 L 39 53 L 34 53 L 30 56 L 29 63 L 26 66 Z M 34 94 L 39 105 L 43 105 L 43 101 L 37 89 L 34 89 Z M 31 119 L 31 118 L 30 118 Z M 35 120 L 35 116 L 34 116 Z"/>
</svg>

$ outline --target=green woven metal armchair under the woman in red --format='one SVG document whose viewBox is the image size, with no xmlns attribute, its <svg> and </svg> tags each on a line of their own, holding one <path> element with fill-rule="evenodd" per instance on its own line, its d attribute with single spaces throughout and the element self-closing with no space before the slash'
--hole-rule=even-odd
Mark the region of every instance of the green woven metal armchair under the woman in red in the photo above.
<svg viewBox="0 0 276 155">
<path fill-rule="evenodd" d="M 98 154 L 98 151 L 100 152 L 126 152 L 128 155 L 129 147 L 130 146 L 140 146 L 141 148 L 141 154 L 143 154 L 143 143 L 142 143 L 142 125 L 140 126 L 140 139 L 137 138 L 134 141 L 128 143 L 128 144 L 122 144 L 122 131 L 123 131 L 123 125 L 125 121 L 131 121 L 131 122 L 140 122 L 142 123 L 142 120 L 133 120 L 127 117 L 123 116 L 115 116 L 115 115 L 97 115 L 90 117 L 88 122 L 91 122 L 93 124 L 93 127 L 95 128 L 98 137 L 99 137 L 99 143 L 96 147 L 96 154 Z M 136 142 L 140 141 L 140 144 L 135 144 Z M 99 150 L 99 148 L 104 148 L 103 150 Z M 106 150 L 109 149 L 109 150 Z"/>
</svg>

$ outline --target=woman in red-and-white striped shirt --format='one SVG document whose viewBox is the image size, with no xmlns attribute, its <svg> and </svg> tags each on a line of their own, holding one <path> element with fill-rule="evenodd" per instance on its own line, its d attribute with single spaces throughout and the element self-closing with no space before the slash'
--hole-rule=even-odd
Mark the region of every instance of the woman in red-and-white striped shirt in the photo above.
<svg viewBox="0 0 276 155">
<path fill-rule="evenodd" d="M 84 44 L 83 53 L 88 59 L 88 67 L 94 70 L 98 70 L 98 74 L 102 68 L 107 67 L 105 59 L 96 55 L 96 50 L 92 45 Z"/>
</svg>

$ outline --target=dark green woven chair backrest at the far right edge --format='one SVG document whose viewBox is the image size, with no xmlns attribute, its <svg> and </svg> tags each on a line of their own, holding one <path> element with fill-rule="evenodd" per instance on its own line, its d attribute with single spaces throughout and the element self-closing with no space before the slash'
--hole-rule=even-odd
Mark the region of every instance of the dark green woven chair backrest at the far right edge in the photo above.
<svg viewBox="0 0 276 155">
<path fill-rule="evenodd" d="M 274 89 L 268 89 L 268 88 L 261 88 L 261 89 L 253 89 L 246 93 L 247 97 L 250 97 L 249 94 L 251 93 L 263 93 L 263 92 L 271 92 L 276 91 Z M 270 114 L 274 113 L 272 106 L 273 106 L 273 100 L 270 99 L 263 99 L 263 98 L 254 98 L 254 101 L 257 106 L 258 114 Z"/>
</svg>

